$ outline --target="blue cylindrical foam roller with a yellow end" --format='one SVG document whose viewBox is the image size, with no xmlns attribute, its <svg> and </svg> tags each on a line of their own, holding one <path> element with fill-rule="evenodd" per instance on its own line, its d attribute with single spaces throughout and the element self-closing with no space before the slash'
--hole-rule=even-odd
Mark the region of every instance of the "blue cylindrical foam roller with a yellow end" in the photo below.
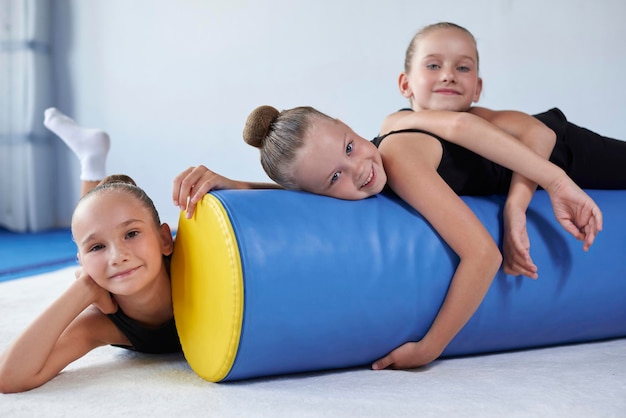
<svg viewBox="0 0 626 418">
<path fill-rule="evenodd" d="M 539 279 L 499 272 L 443 357 L 626 336 L 626 191 L 588 192 L 604 215 L 590 251 L 538 191 L 527 228 Z M 463 200 L 501 243 L 504 197 Z M 421 215 L 385 194 L 212 192 L 193 219 L 181 215 L 175 245 L 181 345 L 210 381 L 369 365 L 423 337 L 458 263 Z"/>
</svg>

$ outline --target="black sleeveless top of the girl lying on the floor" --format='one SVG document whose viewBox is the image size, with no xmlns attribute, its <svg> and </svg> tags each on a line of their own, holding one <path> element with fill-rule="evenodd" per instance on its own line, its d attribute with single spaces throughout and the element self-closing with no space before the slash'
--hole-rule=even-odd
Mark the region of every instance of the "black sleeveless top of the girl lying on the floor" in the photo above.
<svg viewBox="0 0 626 418">
<path fill-rule="evenodd" d="M 132 344 L 132 346 L 116 345 L 116 347 L 151 354 L 182 351 L 174 318 L 159 327 L 151 328 L 127 316 L 121 308 L 118 308 L 117 312 L 113 314 L 107 314 L 107 316 Z"/>
</svg>

